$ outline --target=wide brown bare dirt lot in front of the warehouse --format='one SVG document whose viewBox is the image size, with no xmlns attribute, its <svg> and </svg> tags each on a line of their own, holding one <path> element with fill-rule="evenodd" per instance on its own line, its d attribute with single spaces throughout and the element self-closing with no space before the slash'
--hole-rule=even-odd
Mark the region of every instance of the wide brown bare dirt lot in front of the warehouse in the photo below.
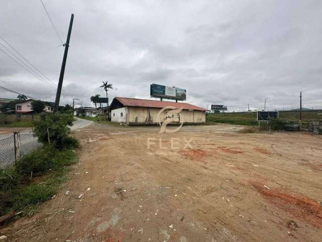
<svg viewBox="0 0 322 242">
<path fill-rule="evenodd" d="M 185 126 L 158 134 L 158 127 L 94 124 L 75 131 L 82 148 L 69 181 L 32 218 L 0 235 L 10 241 L 321 241 L 322 136 L 240 134 L 241 128 Z"/>
</svg>

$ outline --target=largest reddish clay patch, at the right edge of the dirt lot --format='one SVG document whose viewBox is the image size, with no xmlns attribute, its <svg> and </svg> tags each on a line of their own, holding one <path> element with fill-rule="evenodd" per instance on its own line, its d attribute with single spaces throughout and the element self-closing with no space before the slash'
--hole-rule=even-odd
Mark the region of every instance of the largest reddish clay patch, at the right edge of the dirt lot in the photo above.
<svg viewBox="0 0 322 242">
<path fill-rule="evenodd" d="M 263 185 L 254 184 L 254 182 L 251 184 L 271 204 L 316 228 L 322 229 L 322 206 L 319 203 L 299 195 L 267 189 Z"/>
</svg>

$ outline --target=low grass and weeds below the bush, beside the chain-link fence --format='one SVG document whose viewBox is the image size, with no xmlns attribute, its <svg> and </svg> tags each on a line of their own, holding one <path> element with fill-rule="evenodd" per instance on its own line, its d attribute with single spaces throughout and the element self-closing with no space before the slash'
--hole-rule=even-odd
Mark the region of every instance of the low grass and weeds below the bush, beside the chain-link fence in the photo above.
<svg viewBox="0 0 322 242">
<path fill-rule="evenodd" d="M 65 179 L 66 166 L 74 163 L 75 157 L 73 150 L 44 146 L 27 154 L 15 167 L 0 170 L 0 216 L 11 210 L 31 215 L 35 211 L 34 204 L 56 193 Z M 31 171 L 33 176 L 46 173 L 46 179 L 35 184 L 30 178 Z"/>
</svg>

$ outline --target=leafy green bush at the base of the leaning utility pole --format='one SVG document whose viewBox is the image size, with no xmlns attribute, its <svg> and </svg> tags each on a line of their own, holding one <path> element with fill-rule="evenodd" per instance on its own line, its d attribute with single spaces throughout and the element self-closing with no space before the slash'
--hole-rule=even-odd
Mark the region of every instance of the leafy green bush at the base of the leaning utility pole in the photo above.
<svg viewBox="0 0 322 242">
<path fill-rule="evenodd" d="M 40 114 L 40 120 L 34 122 L 34 134 L 38 140 L 43 144 L 48 144 L 48 134 L 50 143 L 56 148 L 62 149 L 64 145 L 72 148 L 73 144 L 77 144 L 73 138 L 68 137 L 72 126 L 73 116 L 66 113 L 43 113 Z"/>
</svg>

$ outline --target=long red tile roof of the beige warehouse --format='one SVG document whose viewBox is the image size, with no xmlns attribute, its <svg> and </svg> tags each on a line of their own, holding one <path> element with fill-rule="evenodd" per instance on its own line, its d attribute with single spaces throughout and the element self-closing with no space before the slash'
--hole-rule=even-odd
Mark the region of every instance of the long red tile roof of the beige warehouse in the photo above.
<svg viewBox="0 0 322 242">
<path fill-rule="evenodd" d="M 147 100 L 147 99 L 137 99 L 137 98 L 127 98 L 127 97 L 115 97 L 124 106 L 127 107 L 155 107 L 163 108 L 166 106 L 173 106 L 176 108 L 183 108 L 185 110 L 199 110 L 208 111 L 205 108 L 198 107 L 189 103 L 184 102 L 167 102 L 167 101 L 157 101 L 157 100 Z"/>
</svg>

